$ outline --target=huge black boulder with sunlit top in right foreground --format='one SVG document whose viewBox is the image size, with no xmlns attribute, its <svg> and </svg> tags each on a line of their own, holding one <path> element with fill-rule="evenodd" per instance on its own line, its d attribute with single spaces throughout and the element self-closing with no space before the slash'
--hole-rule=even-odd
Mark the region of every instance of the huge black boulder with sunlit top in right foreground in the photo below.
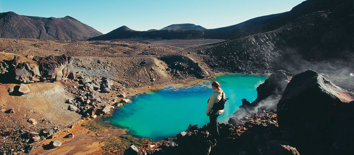
<svg viewBox="0 0 354 155">
<path fill-rule="evenodd" d="M 315 71 L 293 76 L 277 105 L 283 138 L 301 154 L 334 154 L 333 144 L 340 132 L 336 119 L 353 100 L 353 94 Z M 339 122 L 343 123 L 340 126 L 346 124 L 343 120 Z M 353 145 L 353 141 L 346 145 Z"/>
</svg>

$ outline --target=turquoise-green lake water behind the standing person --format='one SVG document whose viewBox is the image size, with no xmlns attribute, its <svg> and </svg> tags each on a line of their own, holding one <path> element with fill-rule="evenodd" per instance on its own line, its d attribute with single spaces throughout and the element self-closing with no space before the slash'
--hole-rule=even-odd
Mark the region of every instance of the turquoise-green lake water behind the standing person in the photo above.
<svg viewBox="0 0 354 155">
<path fill-rule="evenodd" d="M 223 74 L 188 87 L 167 85 L 161 90 L 132 97 L 132 102 L 115 109 L 108 119 L 139 137 L 153 140 L 173 137 L 189 124 L 202 127 L 209 123 L 205 111 L 213 91 L 212 81 L 218 81 L 229 98 L 224 113 L 218 117 L 219 123 L 227 123 L 242 105 L 241 99 L 256 99 L 256 88 L 267 78 L 267 75 Z"/>
</svg>

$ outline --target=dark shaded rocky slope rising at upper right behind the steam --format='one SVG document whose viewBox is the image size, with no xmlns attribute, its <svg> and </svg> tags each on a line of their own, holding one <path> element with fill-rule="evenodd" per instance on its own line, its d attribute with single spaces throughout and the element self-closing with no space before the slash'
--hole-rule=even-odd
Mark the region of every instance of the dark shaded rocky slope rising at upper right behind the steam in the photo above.
<svg viewBox="0 0 354 155">
<path fill-rule="evenodd" d="M 207 63 L 218 70 L 283 69 L 298 73 L 313 68 L 335 73 L 338 69 L 354 67 L 350 63 L 354 41 L 351 6 L 344 0 L 308 0 L 290 12 L 268 19 L 264 28 L 285 23 L 274 30 L 194 49 L 206 55 Z M 287 22 L 290 19 L 286 17 L 295 19 Z"/>
</svg>

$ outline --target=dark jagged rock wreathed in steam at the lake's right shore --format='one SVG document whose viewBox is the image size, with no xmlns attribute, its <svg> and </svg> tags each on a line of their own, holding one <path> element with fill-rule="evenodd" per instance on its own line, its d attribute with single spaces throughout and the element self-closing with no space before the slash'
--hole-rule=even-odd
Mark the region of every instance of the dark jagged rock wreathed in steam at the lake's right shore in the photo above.
<svg viewBox="0 0 354 155">
<path fill-rule="evenodd" d="M 246 99 L 242 99 L 242 105 L 239 106 L 239 110 L 233 116 L 242 118 L 252 113 L 276 109 L 276 104 L 291 79 L 290 75 L 289 72 L 283 70 L 275 71 L 264 83 L 257 87 L 256 100 L 251 103 Z"/>
</svg>

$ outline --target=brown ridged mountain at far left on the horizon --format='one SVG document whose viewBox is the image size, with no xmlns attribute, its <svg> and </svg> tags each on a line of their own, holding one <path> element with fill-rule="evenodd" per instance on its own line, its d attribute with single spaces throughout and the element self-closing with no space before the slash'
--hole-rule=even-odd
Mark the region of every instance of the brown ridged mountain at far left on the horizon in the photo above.
<svg viewBox="0 0 354 155">
<path fill-rule="evenodd" d="M 101 32 L 70 16 L 44 18 L 4 12 L 0 13 L 0 25 L 0 37 L 2 38 L 86 40 L 102 35 Z"/>
</svg>

